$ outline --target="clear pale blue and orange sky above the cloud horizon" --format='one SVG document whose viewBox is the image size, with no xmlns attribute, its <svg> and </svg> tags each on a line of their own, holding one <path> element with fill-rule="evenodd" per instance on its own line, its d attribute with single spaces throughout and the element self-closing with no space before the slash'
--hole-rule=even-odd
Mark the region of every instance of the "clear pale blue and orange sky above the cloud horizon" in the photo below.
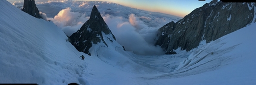
<svg viewBox="0 0 256 85">
<path fill-rule="evenodd" d="M 9 2 L 23 1 L 23 0 L 7 0 Z M 48 0 L 36 0 L 48 1 Z M 95 0 L 74 0 L 74 1 L 95 1 Z M 116 4 L 130 6 L 132 8 L 143 9 L 152 12 L 161 12 L 164 14 L 176 15 L 177 17 L 185 17 L 193 9 L 199 8 L 211 0 L 198 1 L 198 0 L 96 0 L 108 1 Z"/>
</svg>

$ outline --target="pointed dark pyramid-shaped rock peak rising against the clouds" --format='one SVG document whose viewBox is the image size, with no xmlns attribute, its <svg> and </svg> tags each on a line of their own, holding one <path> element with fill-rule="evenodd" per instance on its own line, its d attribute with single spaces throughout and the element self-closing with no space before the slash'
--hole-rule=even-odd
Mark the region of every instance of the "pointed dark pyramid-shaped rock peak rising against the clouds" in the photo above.
<svg viewBox="0 0 256 85">
<path fill-rule="evenodd" d="M 108 44 L 104 40 L 104 35 L 111 35 L 111 37 L 107 37 L 107 40 L 111 42 L 115 41 L 114 35 L 101 17 L 98 9 L 96 6 L 93 6 L 90 19 L 82 25 L 80 30 L 74 32 L 69 38 L 71 44 L 73 44 L 78 51 L 89 54 L 89 49 L 92 47 L 92 44 L 103 42 L 105 46 L 108 47 Z"/>
</svg>

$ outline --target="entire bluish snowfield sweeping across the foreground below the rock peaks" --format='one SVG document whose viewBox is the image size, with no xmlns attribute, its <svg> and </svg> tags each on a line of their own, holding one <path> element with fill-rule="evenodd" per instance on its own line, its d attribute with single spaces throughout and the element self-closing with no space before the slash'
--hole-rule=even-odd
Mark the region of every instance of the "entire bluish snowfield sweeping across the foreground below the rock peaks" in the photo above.
<svg viewBox="0 0 256 85">
<path fill-rule="evenodd" d="M 53 22 L 0 1 L 0 83 L 256 84 L 255 27 L 252 23 L 176 55 L 136 55 L 113 43 L 95 45 L 89 56 L 77 51 Z"/>
</svg>

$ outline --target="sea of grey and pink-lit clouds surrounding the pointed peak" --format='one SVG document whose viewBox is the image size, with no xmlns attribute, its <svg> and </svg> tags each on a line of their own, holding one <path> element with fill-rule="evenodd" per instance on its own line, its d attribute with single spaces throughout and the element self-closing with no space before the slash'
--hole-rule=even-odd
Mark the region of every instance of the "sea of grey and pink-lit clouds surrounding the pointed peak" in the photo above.
<svg viewBox="0 0 256 85">
<path fill-rule="evenodd" d="M 23 2 L 13 2 L 13 5 L 21 9 Z M 164 54 L 160 46 L 154 45 L 157 30 L 168 22 L 180 19 L 173 15 L 102 1 L 36 1 L 36 5 L 43 19 L 54 22 L 68 36 L 89 19 L 95 5 L 117 42 L 127 51 L 142 55 Z"/>
</svg>

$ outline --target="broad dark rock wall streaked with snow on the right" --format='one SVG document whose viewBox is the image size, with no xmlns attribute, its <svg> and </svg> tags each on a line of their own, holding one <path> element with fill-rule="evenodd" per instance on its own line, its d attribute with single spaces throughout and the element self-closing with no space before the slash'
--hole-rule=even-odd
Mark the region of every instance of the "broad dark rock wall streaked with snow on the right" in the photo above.
<svg viewBox="0 0 256 85">
<path fill-rule="evenodd" d="M 190 51 L 203 40 L 217 40 L 253 22 L 254 6 L 255 3 L 211 1 L 176 23 L 170 22 L 161 27 L 155 45 L 160 45 L 166 54 L 175 54 L 173 50 L 179 47 Z"/>
</svg>

